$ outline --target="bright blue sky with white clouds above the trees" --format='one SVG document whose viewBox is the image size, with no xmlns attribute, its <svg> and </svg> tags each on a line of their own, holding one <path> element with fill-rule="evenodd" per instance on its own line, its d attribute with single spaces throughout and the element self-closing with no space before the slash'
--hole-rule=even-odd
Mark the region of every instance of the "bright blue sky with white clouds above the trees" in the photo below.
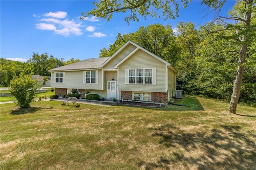
<svg viewBox="0 0 256 170">
<path fill-rule="evenodd" d="M 90 11 L 93 1 L 0 1 L 0 57 L 14 61 L 26 61 L 33 52 L 48 53 L 56 58 L 96 58 L 100 49 L 108 48 L 118 33 L 136 32 L 140 26 L 170 24 L 175 31 L 177 23 L 193 22 L 196 28 L 210 22 L 213 13 L 198 0 L 192 0 L 186 9 L 180 6 L 175 20 L 140 18 L 139 22 L 124 21 L 125 14 L 115 13 L 107 22 L 90 16 L 80 20 L 81 12 Z M 226 16 L 235 1 L 228 0 L 221 16 Z M 205 17 L 204 17 L 205 16 Z"/>
</svg>

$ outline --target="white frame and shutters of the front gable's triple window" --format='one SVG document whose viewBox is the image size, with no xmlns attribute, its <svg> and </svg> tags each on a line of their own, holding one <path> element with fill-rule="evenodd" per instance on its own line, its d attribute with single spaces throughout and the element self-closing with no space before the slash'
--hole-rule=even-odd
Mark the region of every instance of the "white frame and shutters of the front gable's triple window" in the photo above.
<svg viewBox="0 0 256 170">
<path fill-rule="evenodd" d="M 137 83 L 137 69 L 143 69 L 143 83 Z M 152 69 L 152 83 L 145 83 L 145 69 Z M 129 83 L 129 70 L 135 70 L 135 83 Z M 125 84 L 156 85 L 156 68 L 125 69 Z"/>
</svg>

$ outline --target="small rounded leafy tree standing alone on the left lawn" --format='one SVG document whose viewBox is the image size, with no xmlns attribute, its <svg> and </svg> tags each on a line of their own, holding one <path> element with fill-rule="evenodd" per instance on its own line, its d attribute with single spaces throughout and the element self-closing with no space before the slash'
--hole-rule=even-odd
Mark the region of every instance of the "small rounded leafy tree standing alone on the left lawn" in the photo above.
<svg viewBox="0 0 256 170">
<path fill-rule="evenodd" d="M 17 100 L 16 105 L 21 108 L 30 107 L 30 103 L 36 97 L 36 89 L 40 88 L 37 79 L 31 79 L 30 75 L 23 73 L 18 77 L 14 77 L 10 81 L 9 91 L 11 95 Z"/>
</svg>

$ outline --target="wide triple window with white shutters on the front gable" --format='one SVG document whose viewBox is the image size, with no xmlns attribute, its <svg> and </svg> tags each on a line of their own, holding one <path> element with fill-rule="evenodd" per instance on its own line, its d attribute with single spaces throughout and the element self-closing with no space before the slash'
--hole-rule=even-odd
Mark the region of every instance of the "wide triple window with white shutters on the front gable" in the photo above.
<svg viewBox="0 0 256 170">
<path fill-rule="evenodd" d="M 156 84 L 156 68 L 126 69 L 126 84 Z"/>
</svg>

